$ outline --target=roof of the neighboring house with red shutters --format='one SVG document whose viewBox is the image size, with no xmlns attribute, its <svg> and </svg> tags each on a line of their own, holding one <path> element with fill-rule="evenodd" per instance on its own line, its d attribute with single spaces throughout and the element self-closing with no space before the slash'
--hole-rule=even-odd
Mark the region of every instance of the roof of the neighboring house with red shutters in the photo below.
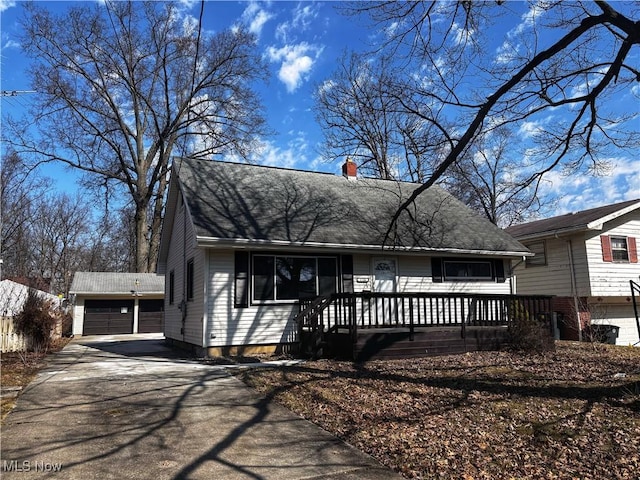
<svg viewBox="0 0 640 480">
<path fill-rule="evenodd" d="M 640 199 L 628 200 L 534 222 L 522 223 L 511 226 L 506 230 L 514 237 L 521 239 L 589 229 L 600 230 L 604 222 L 638 208 L 640 208 Z"/>
</svg>

